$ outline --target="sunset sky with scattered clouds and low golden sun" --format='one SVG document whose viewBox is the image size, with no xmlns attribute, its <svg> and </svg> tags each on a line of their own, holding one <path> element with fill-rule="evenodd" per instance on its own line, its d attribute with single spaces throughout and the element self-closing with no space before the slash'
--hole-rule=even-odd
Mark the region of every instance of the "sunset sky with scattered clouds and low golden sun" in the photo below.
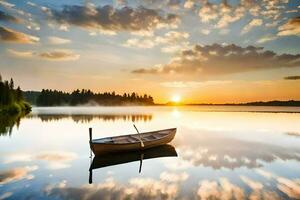
<svg viewBox="0 0 300 200">
<path fill-rule="evenodd" d="M 300 0 L 0 0 L 0 74 L 156 103 L 300 100 Z"/>
</svg>

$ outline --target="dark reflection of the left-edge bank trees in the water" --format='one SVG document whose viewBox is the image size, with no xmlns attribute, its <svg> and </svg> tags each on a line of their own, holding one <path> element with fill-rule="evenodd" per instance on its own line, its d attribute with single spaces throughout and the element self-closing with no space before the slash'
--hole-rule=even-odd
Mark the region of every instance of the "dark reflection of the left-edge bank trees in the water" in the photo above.
<svg viewBox="0 0 300 200">
<path fill-rule="evenodd" d="M 11 135 L 14 125 L 19 127 L 23 115 L 0 115 L 0 136 Z"/>
</svg>

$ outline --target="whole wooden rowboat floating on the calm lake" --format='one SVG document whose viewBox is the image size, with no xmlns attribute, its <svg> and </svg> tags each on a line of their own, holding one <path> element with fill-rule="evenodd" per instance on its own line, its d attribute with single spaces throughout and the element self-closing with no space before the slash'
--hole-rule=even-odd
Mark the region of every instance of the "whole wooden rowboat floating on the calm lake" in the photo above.
<svg viewBox="0 0 300 200">
<path fill-rule="evenodd" d="M 90 147 L 95 155 L 144 150 L 171 142 L 175 134 L 176 128 L 171 128 L 92 140 L 92 129 L 90 128 Z"/>
</svg>

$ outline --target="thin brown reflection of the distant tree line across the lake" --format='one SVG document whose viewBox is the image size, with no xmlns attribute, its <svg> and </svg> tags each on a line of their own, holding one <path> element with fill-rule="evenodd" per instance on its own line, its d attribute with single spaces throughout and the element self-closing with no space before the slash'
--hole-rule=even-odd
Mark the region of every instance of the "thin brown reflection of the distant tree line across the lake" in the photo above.
<svg viewBox="0 0 300 200">
<path fill-rule="evenodd" d="M 79 114 L 41 114 L 41 115 L 30 115 L 29 118 L 40 118 L 43 122 L 59 121 L 62 119 L 72 119 L 76 123 L 89 123 L 94 119 L 103 121 L 144 121 L 148 122 L 152 120 L 152 115 L 146 114 L 101 114 L 101 115 L 79 115 Z"/>
</svg>

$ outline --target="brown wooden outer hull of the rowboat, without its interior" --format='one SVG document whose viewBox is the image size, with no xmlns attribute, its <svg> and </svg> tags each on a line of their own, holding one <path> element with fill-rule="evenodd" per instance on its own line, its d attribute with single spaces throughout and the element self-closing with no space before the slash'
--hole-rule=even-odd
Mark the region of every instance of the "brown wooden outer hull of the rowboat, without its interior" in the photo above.
<svg viewBox="0 0 300 200">
<path fill-rule="evenodd" d="M 136 150 L 145 150 L 157 146 L 161 146 L 164 144 L 170 143 L 176 134 L 176 129 L 167 129 L 170 132 L 162 137 L 155 140 L 145 141 L 143 138 L 147 134 L 153 134 L 155 135 L 155 131 L 148 132 L 148 133 L 141 133 L 141 138 L 143 141 L 144 146 L 142 147 L 140 142 L 134 142 L 134 143 L 97 143 L 97 142 L 90 142 L 90 147 L 95 155 L 103 154 L 103 153 L 110 153 L 110 152 L 124 152 L 124 151 L 136 151 Z M 166 131 L 166 130 L 163 130 Z M 158 132 L 158 131 L 157 131 Z M 129 135 L 128 135 L 129 136 Z M 134 134 L 133 136 L 137 136 L 137 134 Z M 126 136 L 123 136 L 126 137 Z M 114 139 L 114 138 L 112 138 Z"/>
</svg>

